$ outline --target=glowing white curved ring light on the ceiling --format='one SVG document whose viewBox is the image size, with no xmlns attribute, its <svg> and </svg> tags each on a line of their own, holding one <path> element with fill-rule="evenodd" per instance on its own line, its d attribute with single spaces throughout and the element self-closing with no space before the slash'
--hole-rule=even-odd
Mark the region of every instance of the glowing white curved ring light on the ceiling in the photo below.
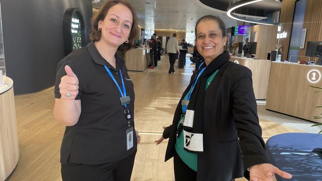
<svg viewBox="0 0 322 181">
<path fill-rule="evenodd" d="M 247 4 L 259 2 L 259 1 L 262 1 L 262 0 L 241 0 L 241 1 L 238 1 L 228 7 L 227 16 L 229 16 L 232 19 L 236 19 L 239 21 L 245 21 L 245 22 L 249 22 L 249 23 L 256 23 L 256 24 L 262 24 L 262 25 L 278 25 L 278 23 L 268 23 L 268 22 L 259 21 L 259 20 L 255 20 L 255 19 L 248 19 L 248 18 L 239 17 L 239 16 L 232 13 L 233 10 L 235 10 L 239 7 L 242 7 Z"/>
</svg>

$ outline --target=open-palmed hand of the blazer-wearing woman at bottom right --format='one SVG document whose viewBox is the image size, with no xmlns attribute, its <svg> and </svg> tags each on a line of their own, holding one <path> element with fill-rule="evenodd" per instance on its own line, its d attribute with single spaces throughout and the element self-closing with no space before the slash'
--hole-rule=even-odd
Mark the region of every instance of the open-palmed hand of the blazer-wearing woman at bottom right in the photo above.
<svg viewBox="0 0 322 181">
<path fill-rule="evenodd" d="M 250 181 L 273 181 L 274 174 L 277 174 L 284 179 L 292 178 L 291 174 L 281 171 L 271 164 L 263 163 L 251 167 Z"/>
</svg>

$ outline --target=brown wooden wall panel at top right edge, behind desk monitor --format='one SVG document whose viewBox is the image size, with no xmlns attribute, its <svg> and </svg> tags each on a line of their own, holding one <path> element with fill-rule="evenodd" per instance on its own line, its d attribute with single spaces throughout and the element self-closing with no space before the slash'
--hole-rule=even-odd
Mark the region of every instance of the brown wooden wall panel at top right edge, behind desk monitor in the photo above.
<svg viewBox="0 0 322 181">
<path fill-rule="evenodd" d="M 308 41 L 322 41 L 322 0 L 307 0 L 306 9 L 303 29 L 306 28 L 307 32 L 304 49 L 299 51 L 300 56 L 305 56 Z"/>
</svg>

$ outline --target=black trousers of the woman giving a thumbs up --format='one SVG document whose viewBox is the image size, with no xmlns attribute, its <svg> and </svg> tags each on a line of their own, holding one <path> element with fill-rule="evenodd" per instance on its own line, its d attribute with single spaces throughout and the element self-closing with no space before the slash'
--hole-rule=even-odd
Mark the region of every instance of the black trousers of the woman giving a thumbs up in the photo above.
<svg viewBox="0 0 322 181">
<path fill-rule="evenodd" d="M 63 181 L 130 181 L 136 152 L 123 160 L 99 165 L 61 165 Z"/>
</svg>

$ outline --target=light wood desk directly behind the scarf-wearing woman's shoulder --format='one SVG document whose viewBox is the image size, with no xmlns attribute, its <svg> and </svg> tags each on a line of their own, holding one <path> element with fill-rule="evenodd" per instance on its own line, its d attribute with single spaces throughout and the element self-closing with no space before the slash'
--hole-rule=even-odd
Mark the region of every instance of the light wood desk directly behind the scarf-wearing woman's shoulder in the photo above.
<svg viewBox="0 0 322 181">
<path fill-rule="evenodd" d="M 230 61 L 243 65 L 252 71 L 255 98 L 266 99 L 270 61 L 241 57 L 230 57 Z"/>
</svg>

